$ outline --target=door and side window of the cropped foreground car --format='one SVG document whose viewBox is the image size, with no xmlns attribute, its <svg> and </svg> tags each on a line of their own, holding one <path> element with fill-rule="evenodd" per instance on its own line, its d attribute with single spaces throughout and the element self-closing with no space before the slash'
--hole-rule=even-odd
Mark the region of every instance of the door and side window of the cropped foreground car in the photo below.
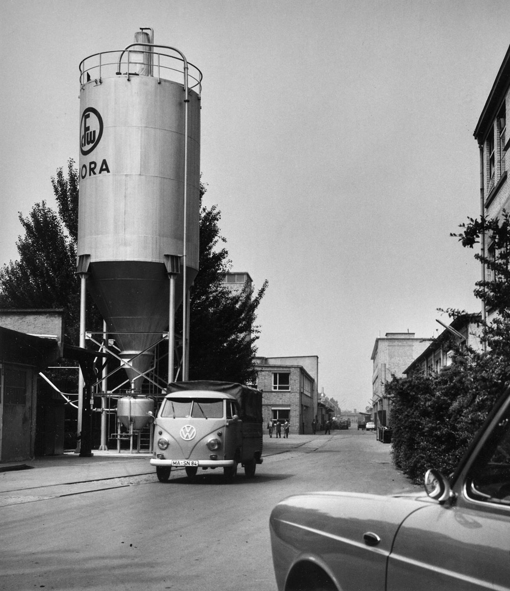
<svg viewBox="0 0 510 591">
<path fill-rule="evenodd" d="M 510 590 L 510 404 L 456 479 L 452 503 L 429 499 L 402 522 L 387 591 Z"/>
</svg>

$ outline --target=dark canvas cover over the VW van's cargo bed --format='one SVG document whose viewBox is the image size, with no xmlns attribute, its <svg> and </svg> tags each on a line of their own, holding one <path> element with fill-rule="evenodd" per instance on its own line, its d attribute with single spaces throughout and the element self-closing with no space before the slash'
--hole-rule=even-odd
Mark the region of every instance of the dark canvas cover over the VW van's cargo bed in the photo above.
<svg viewBox="0 0 510 591">
<path fill-rule="evenodd" d="M 232 382 L 212 382 L 197 380 L 193 382 L 171 382 L 167 387 L 167 394 L 173 392 L 187 392 L 202 390 L 230 394 L 237 399 L 241 407 L 241 420 L 250 423 L 262 423 L 262 392 L 255 388 L 233 384 Z"/>
</svg>

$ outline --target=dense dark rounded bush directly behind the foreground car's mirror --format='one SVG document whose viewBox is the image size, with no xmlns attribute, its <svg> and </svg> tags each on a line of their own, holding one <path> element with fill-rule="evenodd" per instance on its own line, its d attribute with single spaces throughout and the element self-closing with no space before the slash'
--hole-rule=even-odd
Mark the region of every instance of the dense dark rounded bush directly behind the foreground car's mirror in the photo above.
<svg viewBox="0 0 510 591">
<path fill-rule="evenodd" d="M 431 467 L 453 472 L 508 382 L 494 365 L 489 353 L 467 352 L 438 374 L 386 384 L 393 461 L 414 482 Z"/>
</svg>

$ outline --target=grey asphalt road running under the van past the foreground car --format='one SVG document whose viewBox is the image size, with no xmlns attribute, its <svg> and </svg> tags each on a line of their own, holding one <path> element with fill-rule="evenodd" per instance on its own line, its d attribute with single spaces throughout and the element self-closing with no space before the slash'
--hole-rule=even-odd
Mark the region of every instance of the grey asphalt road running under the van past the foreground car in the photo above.
<svg viewBox="0 0 510 591">
<path fill-rule="evenodd" d="M 265 436 L 264 445 L 252 480 L 242 470 L 232 483 L 219 471 L 190 480 L 178 470 L 160 483 L 139 459 L 127 476 L 4 486 L 0 589 L 274 591 L 268 519 L 278 501 L 413 488 L 373 433 L 334 431 L 304 443 Z"/>
</svg>

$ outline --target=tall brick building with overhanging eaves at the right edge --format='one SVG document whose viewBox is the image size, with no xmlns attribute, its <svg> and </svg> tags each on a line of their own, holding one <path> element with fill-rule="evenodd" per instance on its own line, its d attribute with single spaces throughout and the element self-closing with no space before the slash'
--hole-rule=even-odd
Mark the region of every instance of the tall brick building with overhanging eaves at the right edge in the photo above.
<svg viewBox="0 0 510 591">
<path fill-rule="evenodd" d="M 480 150 L 480 213 L 488 219 L 510 212 L 510 133 L 506 125 L 510 111 L 510 47 L 492 85 L 473 135 Z M 495 246 L 490 236 L 482 240 L 488 258 L 494 258 Z M 490 271 L 482 264 L 482 277 L 490 281 Z M 482 316 L 492 310 L 482 310 Z"/>
</svg>

